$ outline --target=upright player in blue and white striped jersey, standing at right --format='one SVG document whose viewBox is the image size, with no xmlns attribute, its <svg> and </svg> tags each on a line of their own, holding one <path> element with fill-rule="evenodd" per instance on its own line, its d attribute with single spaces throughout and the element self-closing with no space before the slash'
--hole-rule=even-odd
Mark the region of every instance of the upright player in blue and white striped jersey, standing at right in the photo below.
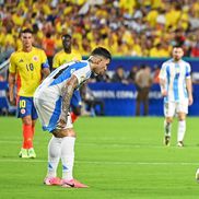
<svg viewBox="0 0 199 199">
<path fill-rule="evenodd" d="M 173 48 L 173 58 L 162 65 L 160 72 L 161 93 L 164 96 L 164 143 L 169 145 L 173 117 L 178 115 L 177 145 L 184 147 L 186 115 L 192 104 L 192 83 L 190 65 L 182 59 L 180 46 Z"/>
</svg>

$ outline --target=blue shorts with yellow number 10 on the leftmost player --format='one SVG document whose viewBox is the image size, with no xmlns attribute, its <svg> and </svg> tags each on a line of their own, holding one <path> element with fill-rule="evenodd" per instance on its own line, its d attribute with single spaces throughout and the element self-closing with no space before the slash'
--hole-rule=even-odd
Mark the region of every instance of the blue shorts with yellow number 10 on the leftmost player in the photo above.
<svg viewBox="0 0 199 199">
<path fill-rule="evenodd" d="M 32 119 L 37 119 L 37 113 L 33 103 L 33 97 L 20 96 L 17 102 L 16 116 L 23 118 L 25 116 L 31 116 Z"/>
</svg>

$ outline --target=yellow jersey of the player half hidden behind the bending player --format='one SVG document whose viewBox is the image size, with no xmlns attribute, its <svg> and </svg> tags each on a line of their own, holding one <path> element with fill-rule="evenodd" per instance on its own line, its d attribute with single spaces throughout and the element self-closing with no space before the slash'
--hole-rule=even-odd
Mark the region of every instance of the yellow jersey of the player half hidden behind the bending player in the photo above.
<svg viewBox="0 0 199 199">
<path fill-rule="evenodd" d="M 71 50 L 70 54 L 65 52 L 65 50 L 58 51 L 54 57 L 52 68 L 56 69 L 63 65 L 65 62 L 81 60 L 82 56 L 77 50 Z"/>
</svg>

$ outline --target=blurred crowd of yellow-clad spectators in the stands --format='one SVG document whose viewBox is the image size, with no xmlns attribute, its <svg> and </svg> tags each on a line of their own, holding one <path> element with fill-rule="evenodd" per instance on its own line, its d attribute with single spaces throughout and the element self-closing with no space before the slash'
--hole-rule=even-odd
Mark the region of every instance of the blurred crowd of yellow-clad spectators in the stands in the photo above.
<svg viewBox="0 0 199 199">
<path fill-rule="evenodd" d="M 183 45 L 199 57 L 199 0 L 0 0 L 0 60 L 21 47 L 22 27 L 47 56 L 68 33 L 83 56 L 101 45 L 114 56 L 168 57 Z"/>
</svg>

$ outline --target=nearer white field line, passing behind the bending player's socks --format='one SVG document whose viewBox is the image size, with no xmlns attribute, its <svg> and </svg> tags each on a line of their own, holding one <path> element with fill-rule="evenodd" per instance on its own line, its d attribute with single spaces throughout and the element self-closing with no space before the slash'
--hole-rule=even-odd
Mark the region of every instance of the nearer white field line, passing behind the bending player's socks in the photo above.
<svg viewBox="0 0 199 199">
<path fill-rule="evenodd" d="M 0 163 L 47 163 L 47 160 L 25 160 L 25 159 L 0 159 Z M 75 164 L 94 164 L 94 165 L 179 165 L 179 166 L 199 166 L 199 162 L 128 162 L 128 161 L 75 161 Z"/>
</svg>

